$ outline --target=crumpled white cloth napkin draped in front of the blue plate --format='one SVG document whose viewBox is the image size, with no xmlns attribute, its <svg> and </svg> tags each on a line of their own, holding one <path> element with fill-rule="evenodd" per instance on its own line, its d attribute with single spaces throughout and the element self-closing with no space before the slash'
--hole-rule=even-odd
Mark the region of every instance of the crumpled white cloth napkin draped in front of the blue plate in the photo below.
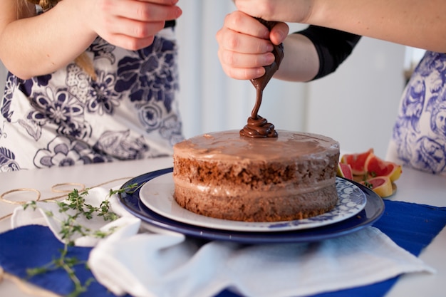
<svg viewBox="0 0 446 297">
<path fill-rule="evenodd" d="M 90 204 L 108 195 L 98 188 L 89 193 L 85 199 Z M 101 240 L 79 237 L 76 244 L 95 246 L 90 269 L 118 295 L 209 297 L 232 288 L 243 296 L 306 296 L 364 286 L 401 273 L 435 272 L 373 227 L 313 243 L 203 244 L 171 231 L 147 231 L 116 196 L 109 199 L 113 211 L 123 217 L 112 223 L 98 218 L 82 223 L 99 229 L 120 228 Z M 60 237 L 61 218 L 48 217 L 46 212 L 56 213 L 54 204 L 38 202 L 38 207 L 39 211 L 17 208 L 12 226 L 44 224 Z"/>
</svg>

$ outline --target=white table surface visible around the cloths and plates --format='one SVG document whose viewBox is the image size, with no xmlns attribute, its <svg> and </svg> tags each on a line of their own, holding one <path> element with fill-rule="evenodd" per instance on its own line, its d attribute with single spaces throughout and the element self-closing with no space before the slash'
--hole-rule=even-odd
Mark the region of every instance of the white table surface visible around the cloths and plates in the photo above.
<svg viewBox="0 0 446 297">
<path fill-rule="evenodd" d="M 56 197 L 61 193 L 52 192 L 56 184 L 79 183 L 85 187 L 110 182 L 103 187 L 123 184 L 131 177 L 172 167 L 172 158 L 157 158 L 126 162 L 112 162 L 98 165 L 61 167 L 43 170 L 21 170 L 19 172 L 0 173 L 0 194 L 12 189 L 31 188 L 41 192 L 41 199 Z M 398 191 L 389 199 L 430 204 L 437 207 L 446 206 L 446 177 L 426 174 L 417 170 L 403 168 L 403 174 L 396 182 Z M 35 192 L 16 192 L 8 194 L 7 199 L 24 197 L 36 199 Z M 0 218 L 11 214 L 17 205 L 0 201 Z M 9 218 L 0 221 L 0 232 L 10 228 Z M 434 241 L 420 254 L 420 259 L 436 269 L 437 273 L 413 273 L 402 276 L 386 297 L 444 297 L 446 296 L 446 229 L 443 229 Z M 14 283 L 4 280 L 0 283 L 0 296 L 28 297 Z"/>
</svg>

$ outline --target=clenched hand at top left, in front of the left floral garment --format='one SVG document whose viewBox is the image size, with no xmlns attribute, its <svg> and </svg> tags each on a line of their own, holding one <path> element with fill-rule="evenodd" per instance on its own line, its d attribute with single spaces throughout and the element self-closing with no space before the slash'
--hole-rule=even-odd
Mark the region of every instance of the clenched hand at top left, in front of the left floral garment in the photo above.
<svg viewBox="0 0 446 297">
<path fill-rule="evenodd" d="M 87 2 L 92 7 L 85 21 L 93 31 L 109 43 L 130 50 L 150 46 L 155 34 L 164 28 L 165 21 L 182 14 L 176 5 L 178 0 L 83 1 Z"/>
</svg>

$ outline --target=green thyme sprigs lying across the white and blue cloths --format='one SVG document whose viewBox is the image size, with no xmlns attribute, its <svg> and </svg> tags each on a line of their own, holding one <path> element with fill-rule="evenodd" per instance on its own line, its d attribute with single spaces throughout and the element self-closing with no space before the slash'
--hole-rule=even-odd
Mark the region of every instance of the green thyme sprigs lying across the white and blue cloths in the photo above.
<svg viewBox="0 0 446 297">
<path fill-rule="evenodd" d="M 78 189 L 73 189 L 72 192 L 68 193 L 66 201 L 56 202 L 59 207 L 58 212 L 66 214 L 66 219 L 60 221 L 60 233 L 64 243 L 63 250 L 61 250 L 61 254 L 57 259 L 53 259 L 53 261 L 49 262 L 48 264 L 33 269 L 27 269 L 26 273 L 28 274 L 28 277 L 31 278 L 38 274 L 63 269 L 66 271 L 74 284 L 74 290 L 68 295 L 68 297 L 77 297 L 81 293 L 87 291 L 90 283 L 95 280 L 94 278 L 89 278 L 87 281 L 85 281 L 85 283 L 81 283 L 79 278 L 76 276 L 74 266 L 79 264 L 84 264 L 87 266 L 87 263 L 86 261 L 79 261 L 76 259 L 76 257 L 68 257 L 68 246 L 74 245 L 73 236 L 76 234 L 81 234 L 81 236 L 88 235 L 95 238 L 104 238 L 105 236 L 112 234 L 113 231 L 115 231 L 115 228 L 110 228 L 108 231 L 92 230 L 87 226 L 78 224 L 77 219 L 79 217 L 93 219 L 93 217 L 96 216 L 102 217 L 105 222 L 115 221 L 115 219 L 118 219 L 118 215 L 110 210 L 110 201 L 108 198 L 112 197 L 114 194 L 122 193 L 128 191 L 129 189 L 135 188 L 138 188 L 138 184 L 129 184 L 127 187 L 116 190 L 110 189 L 107 199 L 103 200 L 99 207 L 93 207 L 85 202 L 85 196 L 88 195 L 89 189 L 85 189 L 82 192 L 79 192 Z M 28 207 L 31 207 L 34 210 L 38 209 L 35 201 L 24 204 L 24 209 L 27 209 Z M 74 214 L 71 214 L 73 211 Z M 44 210 L 44 212 L 48 217 L 55 218 L 53 212 L 48 210 Z"/>
</svg>

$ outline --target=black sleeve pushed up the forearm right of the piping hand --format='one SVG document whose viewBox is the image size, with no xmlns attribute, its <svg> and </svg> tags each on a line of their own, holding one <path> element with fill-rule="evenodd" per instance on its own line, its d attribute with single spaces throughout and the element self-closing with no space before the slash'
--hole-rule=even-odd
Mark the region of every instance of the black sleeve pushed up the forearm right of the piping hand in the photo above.
<svg viewBox="0 0 446 297">
<path fill-rule="evenodd" d="M 356 34 L 312 25 L 295 33 L 306 36 L 316 46 L 319 56 L 319 71 L 313 80 L 336 71 L 336 68 L 351 54 L 361 38 Z"/>
</svg>

